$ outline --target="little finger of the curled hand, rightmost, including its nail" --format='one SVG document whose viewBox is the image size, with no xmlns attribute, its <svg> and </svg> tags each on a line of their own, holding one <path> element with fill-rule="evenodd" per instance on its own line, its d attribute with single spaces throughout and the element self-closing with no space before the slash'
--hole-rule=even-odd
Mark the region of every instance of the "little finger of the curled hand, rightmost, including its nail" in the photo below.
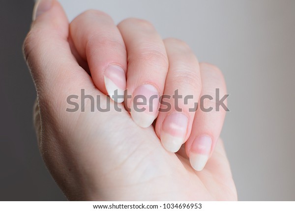
<svg viewBox="0 0 295 211">
<path fill-rule="evenodd" d="M 220 70 L 200 63 L 202 92 L 186 153 L 192 167 L 201 171 L 212 154 L 226 113 L 226 85 Z"/>
</svg>

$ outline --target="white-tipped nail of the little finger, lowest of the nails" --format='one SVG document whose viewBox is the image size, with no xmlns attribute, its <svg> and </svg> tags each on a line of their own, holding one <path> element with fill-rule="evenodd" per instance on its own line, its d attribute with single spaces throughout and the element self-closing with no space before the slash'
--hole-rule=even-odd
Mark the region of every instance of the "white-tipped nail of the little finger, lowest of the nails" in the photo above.
<svg viewBox="0 0 295 211">
<path fill-rule="evenodd" d="M 205 167 L 211 145 L 212 139 L 207 135 L 199 136 L 194 140 L 189 153 L 189 161 L 196 171 L 201 171 Z"/>
</svg>

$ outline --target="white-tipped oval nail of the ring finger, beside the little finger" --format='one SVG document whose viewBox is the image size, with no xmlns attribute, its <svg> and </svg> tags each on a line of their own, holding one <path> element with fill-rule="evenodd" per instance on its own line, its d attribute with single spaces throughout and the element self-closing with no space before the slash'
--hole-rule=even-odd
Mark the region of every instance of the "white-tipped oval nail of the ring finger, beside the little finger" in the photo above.
<svg viewBox="0 0 295 211">
<path fill-rule="evenodd" d="M 188 118 L 181 113 L 167 116 L 163 122 L 160 138 L 164 148 L 176 153 L 184 142 Z"/>
</svg>

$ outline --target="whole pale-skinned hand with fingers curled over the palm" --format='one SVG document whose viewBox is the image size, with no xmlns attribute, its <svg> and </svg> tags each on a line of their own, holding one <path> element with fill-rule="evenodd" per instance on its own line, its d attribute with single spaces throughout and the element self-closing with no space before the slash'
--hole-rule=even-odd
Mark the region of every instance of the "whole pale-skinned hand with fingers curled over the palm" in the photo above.
<svg viewBox="0 0 295 211">
<path fill-rule="evenodd" d="M 188 111 L 216 88 L 226 94 L 217 67 L 200 63 L 180 40 L 162 40 L 148 21 L 132 18 L 116 26 L 107 14 L 89 10 L 69 23 L 56 0 L 42 0 L 33 19 L 24 53 L 37 90 L 38 144 L 69 200 L 237 199 L 219 138 L 226 112 Z M 85 89 L 105 105 L 114 87 L 146 96 L 178 89 L 194 99 L 180 103 L 181 112 L 173 106 L 145 114 L 114 106 L 66 112 L 68 95 Z"/>
</svg>

